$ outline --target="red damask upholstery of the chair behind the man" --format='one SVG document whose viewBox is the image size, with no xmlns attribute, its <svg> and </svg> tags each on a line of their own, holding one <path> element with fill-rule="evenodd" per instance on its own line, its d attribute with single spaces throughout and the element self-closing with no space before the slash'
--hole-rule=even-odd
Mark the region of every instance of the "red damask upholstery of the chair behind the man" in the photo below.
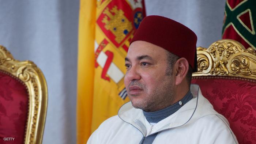
<svg viewBox="0 0 256 144">
<path fill-rule="evenodd" d="M 256 83 L 236 79 L 192 79 L 229 121 L 239 144 L 256 144 Z"/>
</svg>

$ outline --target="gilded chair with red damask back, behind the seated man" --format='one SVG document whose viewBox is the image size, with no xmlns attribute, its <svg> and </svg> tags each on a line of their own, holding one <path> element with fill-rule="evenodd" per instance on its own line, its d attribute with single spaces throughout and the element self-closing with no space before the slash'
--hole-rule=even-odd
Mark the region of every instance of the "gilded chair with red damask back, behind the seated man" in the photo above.
<svg viewBox="0 0 256 144">
<path fill-rule="evenodd" d="M 241 43 L 222 39 L 197 48 L 192 83 L 229 121 L 239 144 L 256 143 L 256 53 Z"/>
</svg>

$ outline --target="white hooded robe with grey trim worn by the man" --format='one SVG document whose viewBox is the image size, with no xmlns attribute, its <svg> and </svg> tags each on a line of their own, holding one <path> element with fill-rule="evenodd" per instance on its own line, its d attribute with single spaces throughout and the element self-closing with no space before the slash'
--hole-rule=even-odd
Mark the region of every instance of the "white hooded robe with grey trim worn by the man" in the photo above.
<svg viewBox="0 0 256 144">
<path fill-rule="evenodd" d="M 104 121 L 87 144 L 139 144 L 143 136 L 157 133 L 153 144 L 238 144 L 225 117 L 218 114 L 203 97 L 196 84 L 191 85 L 193 99 L 154 126 L 143 111 L 124 104 L 118 115 Z"/>
</svg>

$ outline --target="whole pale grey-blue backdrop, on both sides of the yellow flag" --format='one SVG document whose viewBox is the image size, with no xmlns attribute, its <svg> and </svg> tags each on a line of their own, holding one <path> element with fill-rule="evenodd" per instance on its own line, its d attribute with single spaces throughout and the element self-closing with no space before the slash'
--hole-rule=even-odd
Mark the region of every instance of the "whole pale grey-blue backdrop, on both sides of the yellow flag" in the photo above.
<svg viewBox="0 0 256 144">
<path fill-rule="evenodd" d="M 225 0 L 145 0 L 147 15 L 191 28 L 197 46 L 221 39 Z M 76 143 L 79 0 L 0 0 L 0 44 L 18 60 L 31 60 L 48 84 L 43 144 Z"/>
</svg>

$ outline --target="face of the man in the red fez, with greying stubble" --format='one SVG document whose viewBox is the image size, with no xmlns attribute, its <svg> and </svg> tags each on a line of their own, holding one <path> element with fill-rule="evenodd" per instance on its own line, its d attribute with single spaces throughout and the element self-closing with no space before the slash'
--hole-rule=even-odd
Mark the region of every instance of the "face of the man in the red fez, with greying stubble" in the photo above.
<svg viewBox="0 0 256 144">
<path fill-rule="evenodd" d="M 124 84 L 133 107 L 156 111 L 171 105 L 174 76 L 166 75 L 166 52 L 145 41 L 135 41 L 129 47 Z"/>
</svg>

